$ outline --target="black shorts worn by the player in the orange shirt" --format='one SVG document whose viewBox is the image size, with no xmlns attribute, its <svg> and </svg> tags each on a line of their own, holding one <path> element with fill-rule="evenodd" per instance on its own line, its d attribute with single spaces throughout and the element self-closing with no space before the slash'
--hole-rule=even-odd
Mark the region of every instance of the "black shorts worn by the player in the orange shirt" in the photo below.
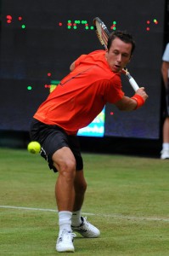
<svg viewBox="0 0 169 256">
<path fill-rule="evenodd" d="M 42 157 L 48 161 L 48 166 L 54 172 L 58 172 L 53 165 L 52 156 L 59 148 L 68 147 L 76 159 L 76 171 L 83 169 L 83 161 L 80 150 L 80 144 L 77 136 L 70 136 L 58 125 L 46 125 L 37 119 L 31 121 L 30 130 L 31 141 L 37 141 L 41 144 Z"/>
</svg>

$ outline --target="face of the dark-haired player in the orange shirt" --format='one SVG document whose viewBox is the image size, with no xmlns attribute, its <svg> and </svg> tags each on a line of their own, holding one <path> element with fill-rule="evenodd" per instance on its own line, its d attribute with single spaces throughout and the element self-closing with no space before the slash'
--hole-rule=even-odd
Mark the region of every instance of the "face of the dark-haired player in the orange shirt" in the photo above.
<svg viewBox="0 0 169 256">
<path fill-rule="evenodd" d="M 121 41 L 120 38 L 115 38 L 112 41 L 109 51 L 106 52 L 106 59 L 110 69 L 118 73 L 122 68 L 127 66 L 131 59 L 132 44 L 127 44 Z"/>
</svg>

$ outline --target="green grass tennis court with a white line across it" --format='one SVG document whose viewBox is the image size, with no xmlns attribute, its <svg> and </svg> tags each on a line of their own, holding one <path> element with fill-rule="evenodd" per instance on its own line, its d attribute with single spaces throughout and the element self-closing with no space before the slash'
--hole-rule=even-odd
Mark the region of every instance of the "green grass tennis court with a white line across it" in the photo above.
<svg viewBox="0 0 169 256">
<path fill-rule="evenodd" d="M 169 255 L 169 161 L 83 154 L 87 194 L 83 216 L 101 231 L 74 240 L 76 256 Z M 57 253 L 57 174 L 38 154 L 0 148 L 0 255 Z"/>
</svg>

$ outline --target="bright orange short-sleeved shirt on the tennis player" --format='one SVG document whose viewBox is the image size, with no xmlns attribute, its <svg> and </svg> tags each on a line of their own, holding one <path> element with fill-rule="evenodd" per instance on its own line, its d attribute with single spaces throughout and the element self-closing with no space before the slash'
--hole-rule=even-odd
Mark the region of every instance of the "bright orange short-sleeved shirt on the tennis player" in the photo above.
<svg viewBox="0 0 169 256">
<path fill-rule="evenodd" d="M 104 50 L 81 55 L 70 72 L 40 105 L 34 118 L 76 134 L 89 125 L 107 102 L 121 100 L 121 77 L 113 73 Z"/>
</svg>

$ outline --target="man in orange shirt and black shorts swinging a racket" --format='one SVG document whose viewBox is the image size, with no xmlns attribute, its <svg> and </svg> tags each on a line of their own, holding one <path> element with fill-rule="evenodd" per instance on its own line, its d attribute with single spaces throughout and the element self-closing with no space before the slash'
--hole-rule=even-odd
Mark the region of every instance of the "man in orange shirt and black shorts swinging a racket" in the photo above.
<svg viewBox="0 0 169 256">
<path fill-rule="evenodd" d="M 135 48 L 126 32 L 110 34 L 107 50 L 81 55 L 70 65 L 47 100 L 37 109 L 31 123 L 31 140 L 42 145 L 42 156 L 59 176 L 55 195 L 59 210 L 58 252 L 74 252 L 73 231 L 84 237 L 98 237 L 100 231 L 81 216 L 87 183 L 77 131 L 88 125 L 107 102 L 122 111 L 144 105 L 144 87 L 127 97 L 121 87 L 121 70 L 127 66 Z"/>
</svg>

